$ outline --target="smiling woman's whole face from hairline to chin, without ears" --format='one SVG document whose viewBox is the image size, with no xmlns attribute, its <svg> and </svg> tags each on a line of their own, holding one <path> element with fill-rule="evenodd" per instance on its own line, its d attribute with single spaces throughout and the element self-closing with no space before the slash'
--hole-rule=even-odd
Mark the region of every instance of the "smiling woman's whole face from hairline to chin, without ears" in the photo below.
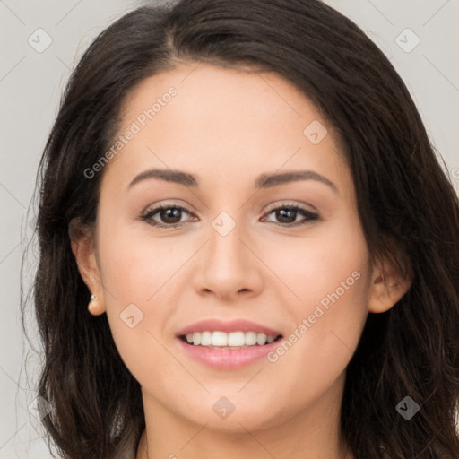
<svg viewBox="0 0 459 459">
<path fill-rule="evenodd" d="M 375 275 L 333 127 L 275 74 L 196 63 L 123 119 L 91 289 L 144 403 L 224 431 L 330 410 Z"/>
</svg>

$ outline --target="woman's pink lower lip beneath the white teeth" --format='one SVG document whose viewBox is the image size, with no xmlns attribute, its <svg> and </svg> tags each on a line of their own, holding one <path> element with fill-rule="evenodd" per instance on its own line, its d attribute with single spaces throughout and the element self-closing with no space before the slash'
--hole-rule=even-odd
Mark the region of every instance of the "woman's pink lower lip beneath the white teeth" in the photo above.
<svg viewBox="0 0 459 459">
<path fill-rule="evenodd" d="M 212 349 L 204 346 L 194 346 L 187 344 L 178 338 L 180 345 L 186 353 L 192 358 L 208 367 L 217 369 L 236 369 L 246 367 L 255 360 L 262 359 L 268 352 L 273 351 L 281 339 L 264 346 L 250 346 L 241 349 Z"/>
</svg>

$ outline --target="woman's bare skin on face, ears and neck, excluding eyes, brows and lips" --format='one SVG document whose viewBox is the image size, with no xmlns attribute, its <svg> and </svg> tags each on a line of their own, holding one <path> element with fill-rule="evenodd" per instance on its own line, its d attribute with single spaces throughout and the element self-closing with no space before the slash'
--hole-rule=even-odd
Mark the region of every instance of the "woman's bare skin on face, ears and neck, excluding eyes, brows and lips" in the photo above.
<svg viewBox="0 0 459 459">
<path fill-rule="evenodd" d="M 352 458 L 340 443 L 345 368 L 368 312 L 393 307 L 409 281 L 385 260 L 369 264 L 339 139 L 290 82 L 181 62 L 128 95 L 120 133 L 170 86 L 177 96 L 100 172 L 95 230 L 72 244 L 98 297 L 90 312 L 108 315 L 142 385 L 146 429 L 137 459 Z M 317 144 L 303 134 L 314 120 L 328 132 Z M 200 186 L 150 178 L 127 189 L 147 169 L 185 171 Z M 314 179 L 255 188 L 261 173 L 305 169 L 336 189 Z M 157 204 L 190 213 L 182 212 L 178 228 L 154 227 L 139 217 Z M 268 213 L 284 204 L 319 218 L 289 227 Z M 236 223 L 226 236 L 212 227 L 221 212 Z M 160 213 L 153 220 L 168 224 Z M 293 212 L 289 221 L 304 220 Z M 289 336 L 355 272 L 359 280 L 274 363 L 208 368 L 175 337 L 211 317 L 245 318 Z M 120 319 L 129 304 L 143 313 L 134 328 Z M 225 420 L 212 410 L 221 396 L 235 406 Z"/>
</svg>

